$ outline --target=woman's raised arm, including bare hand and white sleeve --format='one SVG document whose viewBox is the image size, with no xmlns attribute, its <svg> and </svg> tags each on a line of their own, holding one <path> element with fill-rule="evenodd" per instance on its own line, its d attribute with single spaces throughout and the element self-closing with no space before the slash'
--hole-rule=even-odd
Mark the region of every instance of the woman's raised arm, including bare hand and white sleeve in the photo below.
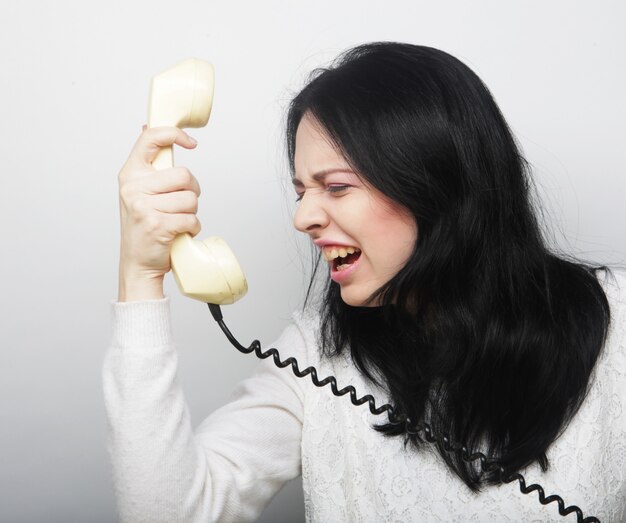
<svg viewBox="0 0 626 523">
<path fill-rule="evenodd" d="M 184 167 L 153 168 L 173 144 L 195 147 L 175 127 L 144 129 L 119 174 L 119 302 L 103 375 L 116 497 L 124 522 L 248 521 L 299 473 L 301 402 L 287 371 L 262 365 L 193 434 L 163 277 L 174 238 L 200 230 L 200 187 Z"/>
</svg>

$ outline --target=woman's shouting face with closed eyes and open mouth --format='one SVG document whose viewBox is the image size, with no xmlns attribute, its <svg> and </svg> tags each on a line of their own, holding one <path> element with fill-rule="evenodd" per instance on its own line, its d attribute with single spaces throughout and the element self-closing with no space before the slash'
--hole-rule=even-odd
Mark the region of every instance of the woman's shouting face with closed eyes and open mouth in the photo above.
<svg viewBox="0 0 626 523">
<path fill-rule="evenodd" d="M 320 248 L 345 303 L 369 296 L 406 263 L 417 239 L 410 213 L 364 183 L 308 114 L 296 133 L 296 229 Z M 369 305 L 377 305 L 370 303 Z"/>
</svg>

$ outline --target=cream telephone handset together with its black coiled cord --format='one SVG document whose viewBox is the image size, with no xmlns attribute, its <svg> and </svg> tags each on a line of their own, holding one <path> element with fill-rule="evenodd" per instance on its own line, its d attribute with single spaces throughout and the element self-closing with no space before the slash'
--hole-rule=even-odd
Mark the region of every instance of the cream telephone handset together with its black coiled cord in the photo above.
<svg viewBox="0 0 626 523">
<path fill-rule="evenodd" d="M 205 126 L 211 114 L 213 78 L 213 67 L 197 59 L 185 60 L 155 76 L 152 79 L 150 92 L 148 125 L 180 128 Z M 173 165 L 172 148 L 163 148 L 152 165 L 157 169 L 171 167 Z M 244 354 L 254 352 L 261 359 L 272 356 L 277 367 L 291 366 L 291 370 L 299 378 L 310 375 L 311 381 L 318 387 L 330 384 L 331 391 L 336 396 L 350 394 L 350 401 L 355 406 L 367 403 L 372 414 L 387 413 L 389 422 L 404 425 L 407 434 L 423 433 L 426 440 L 431 443 L 439 441 L 447 452 L 459 453 L 461 458 L 468 463 L 479 460 L 484 472 L 499 471 L 500 479 L 504 483 L 518 480 L 521 492 L 528 494 L 537 491 L 541 504 L 547 505 L 556 501 L 561 516 L 574 512 L 579 523 L 600 521 L 594 516 L 584 517 L 582 510 L 576 505 L 566 507 L 563 499 L 556 494 L 546 496 L 543 488 L 538 484 L 527 486 L 524 476 L 518 472 L 505 474 L 504 469 L 497 462 L 488 460 L 483 453 L 470 454 L 467 448 L 450 441 L 447 436 L 435 436 L 427 423 L 415 424 L 409 418 L 398 414 L 389 404 L 377 407 L 374 398 L 369 394 L 359 398 L 352 385 L 339 389 L 334 376 L 320 380 L 314 367 L 307 367 L 301 371 L 295 358 L 287 358 L 283 361 L 275 348 L 263 352 L 258 340 L 254 340 L 249 347 L 241 345 L 225 325 L 219 306 L 234 303 L 246 293 L 248 286 L 235 255 L 221 238 L 211 237 L 198 241 L 192 239 L 189 234 L 177 236 L 172 244 L 171 264 L 181 292 L 208 304 L 213 319 L 240 352 Z"/>
</svg>

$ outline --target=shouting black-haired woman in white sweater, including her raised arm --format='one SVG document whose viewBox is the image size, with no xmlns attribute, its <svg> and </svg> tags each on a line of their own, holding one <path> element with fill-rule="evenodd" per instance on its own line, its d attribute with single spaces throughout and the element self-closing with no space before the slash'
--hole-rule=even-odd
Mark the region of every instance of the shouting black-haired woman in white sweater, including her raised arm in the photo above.
<svg viewBox="0 0 626 523">
<path fill-rule="evenodd" d="M 294 224 L 329 274 L 317 267 L 320 304 L 276 347 L 390 402 L 389 420 L 265 361 L 192 432 L 162 280 L 171 239 L 199 230 L 199 187 L 151 169 L 172 143 L 194 146 L 146 130 L 120 173 L 104 379 L 124 521 L 254 520 L 300 473 L 310 521 L 563 520 L 501 482 L 517 471 L 585 516 L 626 518 L 626 279 L 549 251 L 525 163 L 466 66 L 360 46 L 316 71 L 287 118 Z"/>
</svg>

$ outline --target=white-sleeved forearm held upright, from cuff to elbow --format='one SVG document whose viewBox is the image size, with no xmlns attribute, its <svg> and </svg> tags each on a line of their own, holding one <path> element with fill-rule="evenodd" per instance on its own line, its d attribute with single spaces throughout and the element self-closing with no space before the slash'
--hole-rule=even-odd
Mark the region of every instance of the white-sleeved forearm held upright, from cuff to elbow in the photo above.
<svg viewBox="0 0 626 523">
<path fill-rule="evenodd" d="M 113 306 L 104 364 L 109 446 L 122 521 L 191 521 L 201 466 L 176 380 L 167 300 Z"/>
</svg>

